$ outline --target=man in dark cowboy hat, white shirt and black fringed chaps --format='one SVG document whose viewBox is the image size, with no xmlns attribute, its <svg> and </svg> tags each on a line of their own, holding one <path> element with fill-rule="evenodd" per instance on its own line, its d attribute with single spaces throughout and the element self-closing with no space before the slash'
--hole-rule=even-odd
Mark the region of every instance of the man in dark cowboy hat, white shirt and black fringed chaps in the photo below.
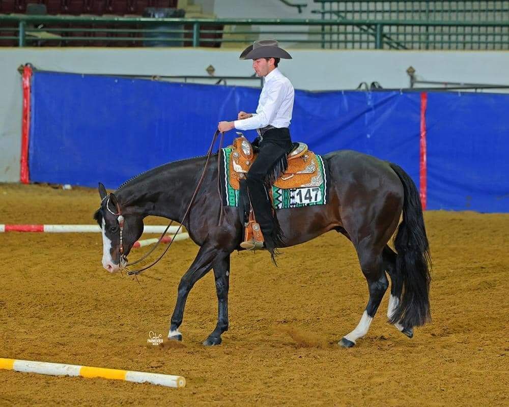
<svg viewBox="0 0 509 407">
<path fill-rule="evenodd" d="M 279 48 L 275 40 L 256 41 L 242 51 L 240 59 L 252 60 L 256 75 L 265 78 L 258 107 L 256 113 L 240 111 L 238 120 L 219 122 L 217 126 L 221 132 L 234 128 L 258 131 L 259 137 L 253 142 L 259 149 L 258 157 L 247 172 L 246 180 L 241 182 L 240 195 L 250 201 L 262 229 L 265 247 L 272 255 L 275 247 L 281 247 L 283 242 L 277 219 L 272 213 L 268 191 L 286 169 L 287 155 L 293 145 L 288 126 L 292 120 L 295 91 L 290 80 L 277 68 L 281 58 L 292 57 Z M 240 246 L 251 250 L 263 247 L 254 239 L 242 242 Z"/>
</svg>

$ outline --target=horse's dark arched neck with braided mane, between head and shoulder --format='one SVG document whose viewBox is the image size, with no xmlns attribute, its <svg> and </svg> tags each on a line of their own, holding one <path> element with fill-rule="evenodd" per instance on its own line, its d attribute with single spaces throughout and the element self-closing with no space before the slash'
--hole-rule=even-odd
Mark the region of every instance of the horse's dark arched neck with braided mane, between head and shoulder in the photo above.
<svg viewBox="0 0 509 407">
<path fill-rule="evenodd" d="M 204 163 L 193 166 L 183 162 L 135 178 L 118 191 L 121 207 L 126 214 L 182 222 Z"/>
</svg>

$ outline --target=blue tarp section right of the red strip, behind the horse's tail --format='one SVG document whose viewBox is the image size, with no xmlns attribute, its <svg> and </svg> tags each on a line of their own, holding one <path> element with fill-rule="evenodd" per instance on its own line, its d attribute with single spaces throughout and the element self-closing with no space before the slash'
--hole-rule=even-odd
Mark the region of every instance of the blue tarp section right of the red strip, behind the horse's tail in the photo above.
<svg viewBox="0 0 509 407">
<path fill-rule="evenodd" d="M 428 209 L 509 212 L 509 95 L 430 93 Z"/>
</svg>

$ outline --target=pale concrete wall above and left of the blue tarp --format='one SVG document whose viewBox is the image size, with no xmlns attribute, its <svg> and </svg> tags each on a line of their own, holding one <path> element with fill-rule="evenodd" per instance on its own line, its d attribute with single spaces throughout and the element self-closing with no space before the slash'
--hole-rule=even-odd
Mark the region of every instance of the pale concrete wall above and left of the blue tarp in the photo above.
<svg viewBox="0 0 509 407">
<path fill-rule="evenodd" d="M 216 3 L 217 7 L 217 3 Z M 407 88 L 413 66 L 426 80 L 509 84 L 509 52 L 290 50 L 280 69 L 296 89 L 355 89 L 378 81 L 384 88 Z M 0 182 L 19 180 L 21 77 L 19 65 L 40 70 L 131 75 L 251 75 L 240 50 L 192 48 L 0 48 Z M 209 81 L 210 83 L 210 81 Z M 254 81 L 233 82 L 256 86 Z M 211 126 L 214 124 L 211 123 Z"/>
</svg>

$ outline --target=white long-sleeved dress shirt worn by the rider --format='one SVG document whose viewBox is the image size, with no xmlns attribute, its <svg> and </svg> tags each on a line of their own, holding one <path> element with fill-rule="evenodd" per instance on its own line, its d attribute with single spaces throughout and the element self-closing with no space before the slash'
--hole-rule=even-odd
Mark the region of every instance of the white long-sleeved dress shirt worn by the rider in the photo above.
<svg viewBox="0 0 509 407">
<path fill-rule="evenodd" d="M 236 120 L 235 128 L 253 130 L 268 125 L 277 128 L 288 127 L 292 120 L 294 94 L 290 80 L 279 69 L 274 68 L 265 76 L 256 113 L 252 113 L 251 118 Z"/>
</svg>

